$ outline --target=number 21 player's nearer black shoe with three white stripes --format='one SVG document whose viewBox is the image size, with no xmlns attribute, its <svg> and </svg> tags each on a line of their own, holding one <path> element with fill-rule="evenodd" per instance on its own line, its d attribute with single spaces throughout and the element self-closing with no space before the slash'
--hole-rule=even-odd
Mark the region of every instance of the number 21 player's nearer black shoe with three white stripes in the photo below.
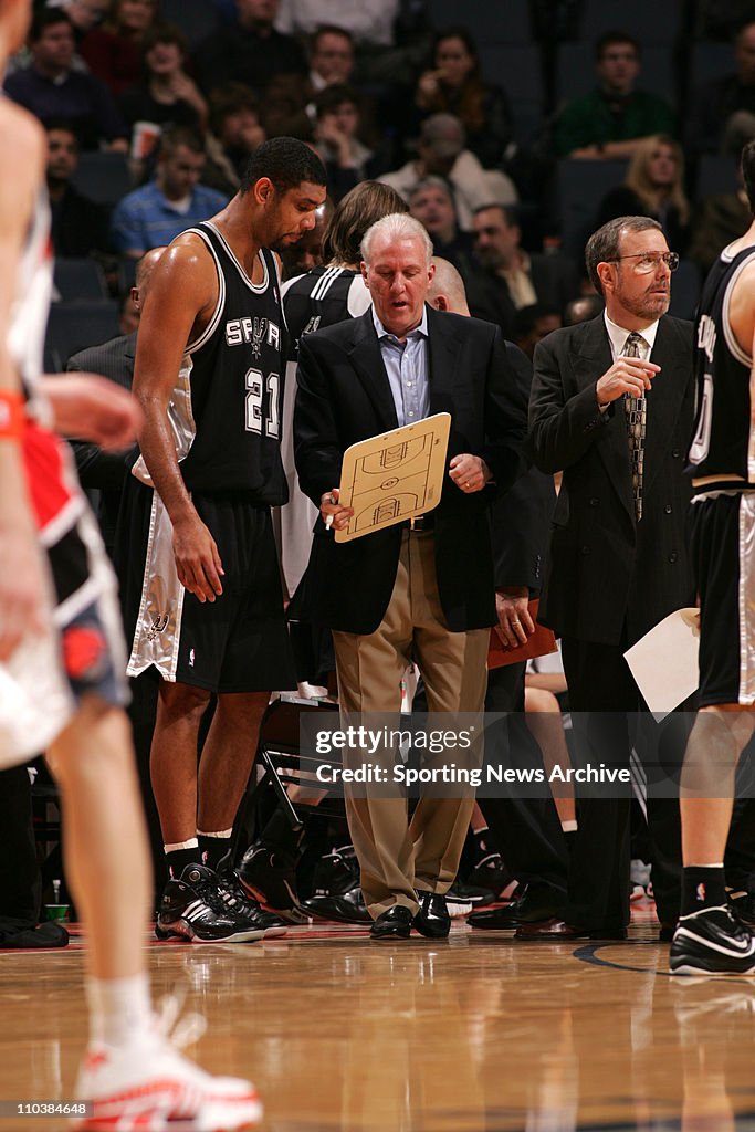
<svg viewBox="0 0 755 1132">
<path fill-rule="evenodd" d="M 163 889 L 155 925 L 158 940 L 179 936 L 191 943 L 251 943 L 264 940 L 266 925 L 247 920 L 225 904 L 218 877 L 204 865 L 187 865 Z"/>
</svg>

